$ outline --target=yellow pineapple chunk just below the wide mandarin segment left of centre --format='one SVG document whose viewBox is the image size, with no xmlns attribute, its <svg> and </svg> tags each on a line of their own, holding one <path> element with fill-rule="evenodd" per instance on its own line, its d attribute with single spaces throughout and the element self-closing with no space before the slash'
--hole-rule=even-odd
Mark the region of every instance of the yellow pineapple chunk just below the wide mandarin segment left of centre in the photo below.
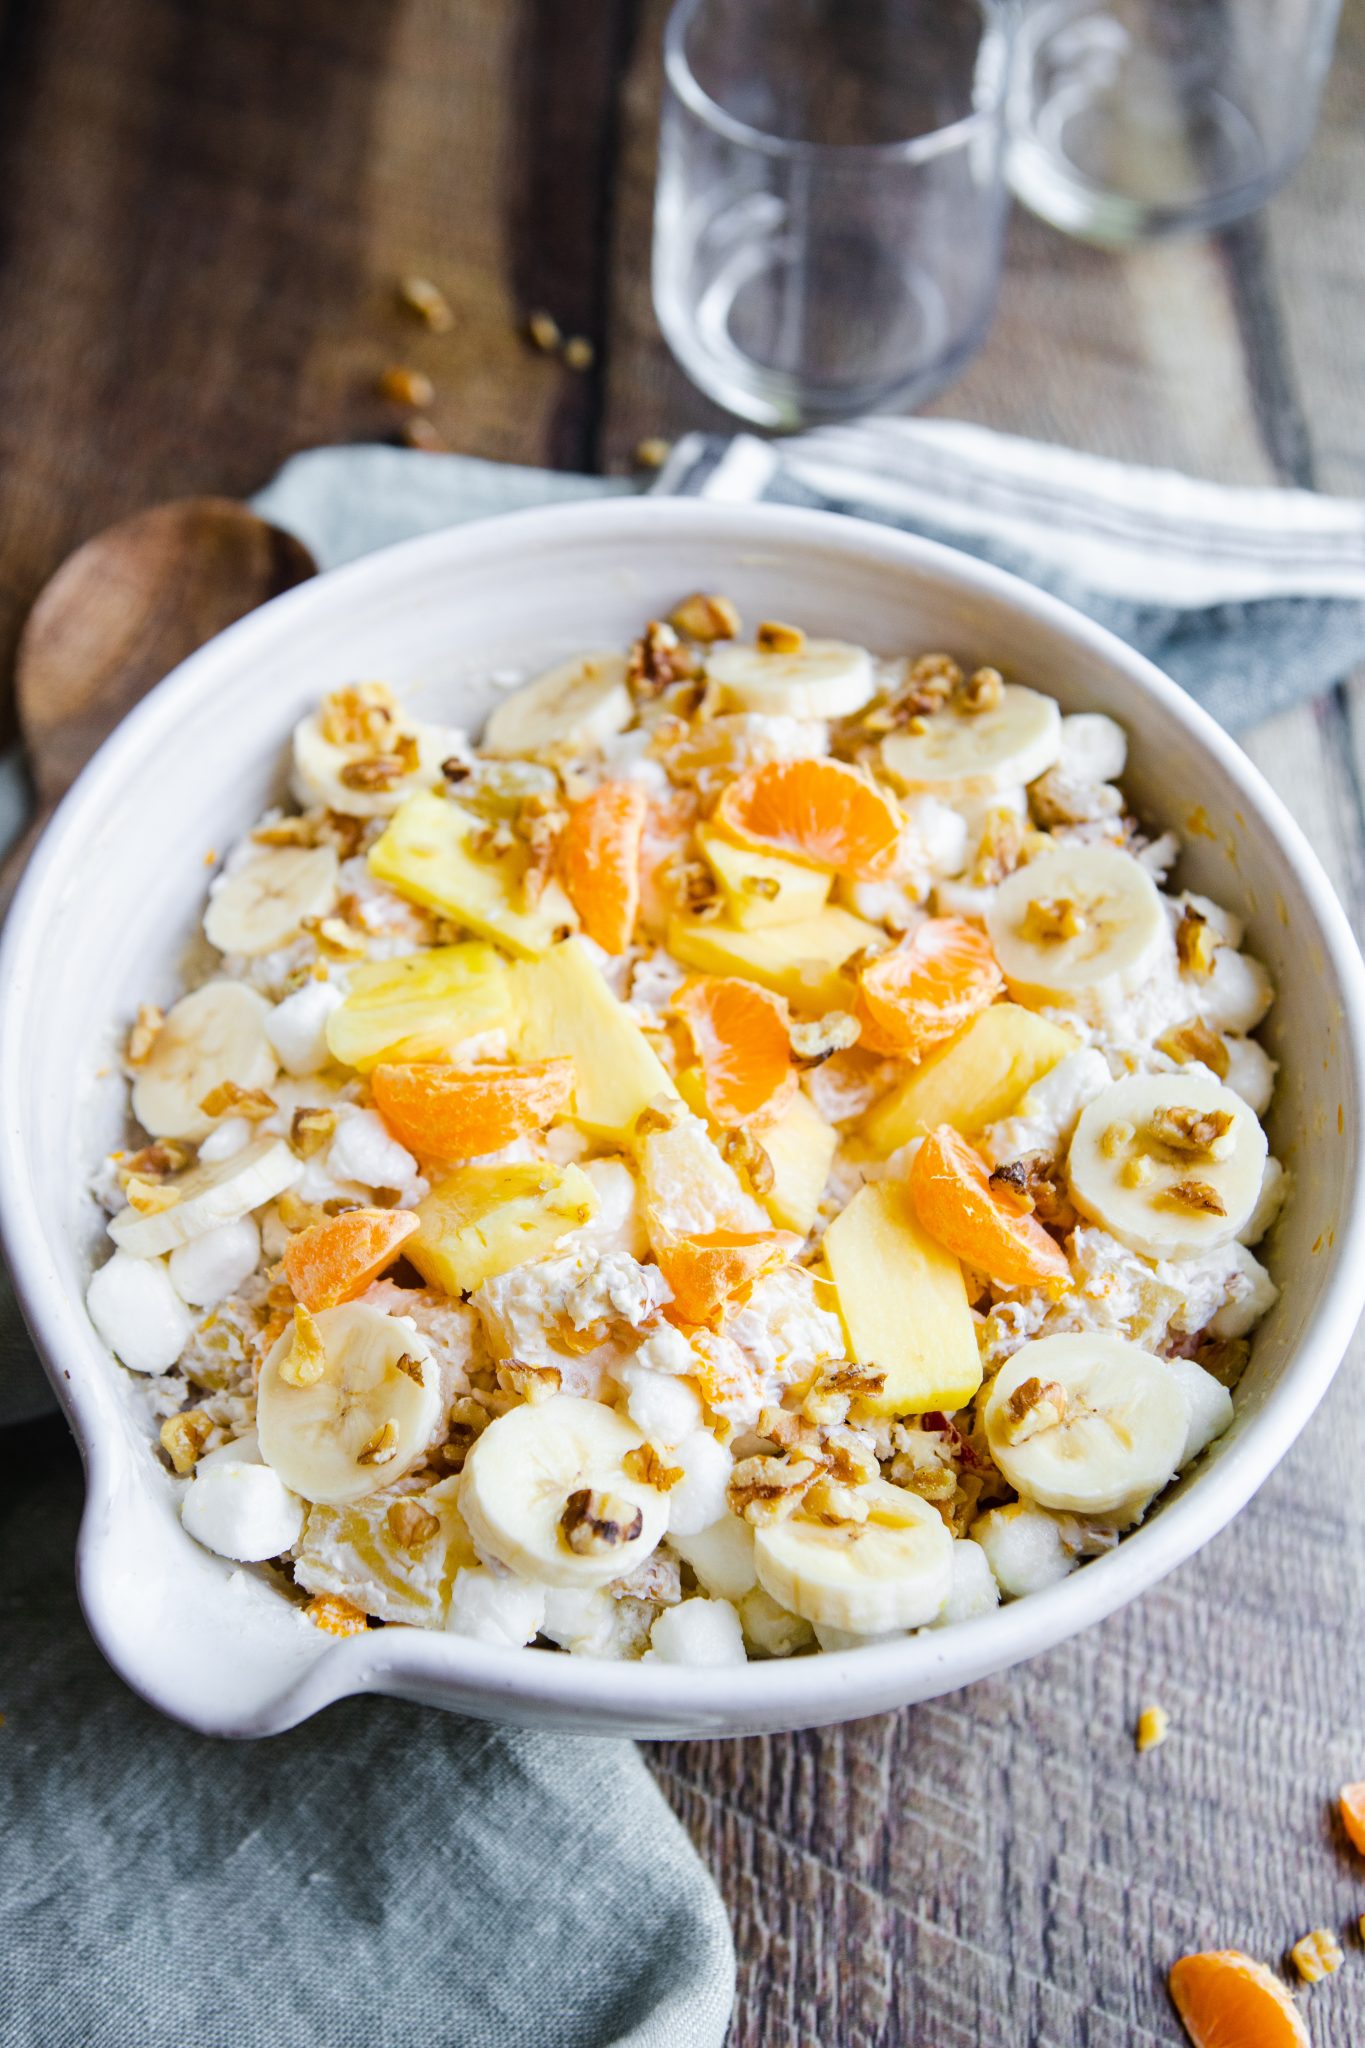
<svg viewBox="0 0 1365 2048">
<path fill-rule="evenodd" d="M 417 1202 L 422 1225 L 403 1255 L 458 1296 L 548 1257 L 596 1214 L 598 1190 L 579 1165 L 463 1165 Z"/>
</svg>

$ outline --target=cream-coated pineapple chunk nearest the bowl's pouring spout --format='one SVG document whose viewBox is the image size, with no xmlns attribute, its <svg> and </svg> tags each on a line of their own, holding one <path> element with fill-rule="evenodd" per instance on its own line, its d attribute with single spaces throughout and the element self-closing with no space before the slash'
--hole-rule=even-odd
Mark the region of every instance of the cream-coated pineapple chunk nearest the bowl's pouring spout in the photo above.
<svg viewBox="0 0 1365 2048">
<path fill-rule="evenodd" d="M 381 1622 L 444 1628 L 456 1571 L 479 1563 L 458 1485 L 456 1473 L 424 1493 L 393 1487 L 348 1507 L 313 1503 L 295 1561 L 297 1583 L 309 1593 L 338 1593 Z"/>
</svg>

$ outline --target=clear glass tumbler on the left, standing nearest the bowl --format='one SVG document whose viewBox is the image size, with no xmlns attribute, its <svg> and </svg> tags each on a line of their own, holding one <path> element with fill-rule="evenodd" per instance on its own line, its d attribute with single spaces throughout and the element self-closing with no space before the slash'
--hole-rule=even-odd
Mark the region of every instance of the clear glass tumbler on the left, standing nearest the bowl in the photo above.
<svg viewBox="0 0 1365 2048">
<path fill-rule="evenodd" d="M 759 426 L 913 406 L 990 324 L 1009 4 L 677 0 L 653 293 L 694 383 Z"/>
</svg>

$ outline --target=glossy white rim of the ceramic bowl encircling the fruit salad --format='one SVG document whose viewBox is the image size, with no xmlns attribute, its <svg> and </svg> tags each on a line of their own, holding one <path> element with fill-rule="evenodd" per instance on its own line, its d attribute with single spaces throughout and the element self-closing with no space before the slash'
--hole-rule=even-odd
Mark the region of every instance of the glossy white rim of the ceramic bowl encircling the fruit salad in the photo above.
<svg viewBox="0 0 1365 2048">
<path fill-rule="evenodd" d="M 1252 813 L 1269 827 L 1293 866 L 1310 903 L 1316 936 L 1340 993 L 1342 1049 L 1355 1106 L 1365 1102 L 1365 965 L 1347 913 L 1295 819 L 1236 741 L 1152 662 L 1105 627 L 1085 618 L 1060 598 L 1036 590 L 990 563 L 937 541 L 925 541 L 837 512 L 765 504 L 714 504 L 688 498 L 596 500 L 534 508 L 442 528 L 358 561 L 325 571 L 272 598 L 217 635 L 170 676 L 108 735 L 63 797 L 20 881 L 0 936 L 0 1014 L 23 999 L 41 956 L 43 911 L 78 854 L 88 817 L 98 813 L 123 764 L 156 745 L 176 725 L 182 709 L 213 686 L 221 670 L 250 662 L 280 629 L 307 627 L 311 612 L 364 600 L 391 582 L 426 573 L 469 569 L 479 555 L 508 549 L 524 557 L 565 541 L 639 541 L 643 532 L 735 543 L 792 543 L 880 567 L 909 567 L 964 596 L 982 596 L 1021 610 L 1042 627 L 1062 633 L 1085 653 L 1115 668 L 1136 698 L 1156 700 L 1187 739 L 1214 756 Z M 888 1706 L 956 1690 L 1003 1671 L 1103 1620 L 1185 1563 L 1244 1507 L 1279 1458 L 1289 1450 L 1326 1393 L 1353 1327 L 1365 1305 L 1365 1149 L 1355 1147 L 1347 1212 L 1338 1219 L 1330 1270 L 1304 1333 L 1265 1405 L 1246 1421 L 1236 1444 L 1216 1466 L 1197 1473 L 1187 1491 L 1160 1516 L 1062 1583 L 1005 1604 L 972 1622 L 956 1622 L 902 1640 L 857 1651 L 823 1651 L 814 1657 L 776 1659 L 735 1667 L 686 1669 L 679 1665 L 618 1665 L 553 1657 L 473 1642 L 420 1628 L 381 1628 L 325 1645 L 301 1677 L 270 1690 L 254 1708 L 221 1716 L 186 1712 L 166 1677 L 143 1667 L 94 1571 L 92 1544 L 115 1511 L 125 1464 L 123 1438 L 98 1425 L 96 1391 L 86 1374 L 108 1370 L 108 1352 L 94 1337 L 84 1303 L 63 1288 L 43 1286 L 51 1272 L 37 1202 L 29 1198 L 29 1163 L 14 1104 L 20 1098 L 16 1034 L 0 1034 L 0 1243 L 10 1264 L 39 1356 L 55 1386 L 86 1464 L 86 1503 L 78 1538 L 78 1583 L 90 1630 L 115 1669 L 153 1706 L 217 1735 L 268 1735 L 293 1726 L 332 1700 L 358 1692 L 397 1692 L 438 1698 L 442 1679 L 452 1706 L 465 1712 L 505 1714 L 518 1706 L 610 1716 L 628 1726 L 675 1724 L 724 1735 L 745 1724 L 810 1726 L 821 1720 L 857 1718 Z M 133 1483 L 141 1485 L 141 1479 Z M 186 1538 L 188 1540 L 188 1538 Z M 902 1677 L 900 1677 L 902 1673 Z"/>
</svg>

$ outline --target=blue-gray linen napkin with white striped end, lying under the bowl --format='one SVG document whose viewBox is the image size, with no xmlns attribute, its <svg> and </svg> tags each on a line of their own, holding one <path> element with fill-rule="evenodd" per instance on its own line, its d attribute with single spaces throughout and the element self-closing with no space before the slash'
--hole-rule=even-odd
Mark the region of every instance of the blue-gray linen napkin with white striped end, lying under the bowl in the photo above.
<svg viewBox="0 0 1365 2048">
<path fill-rule="evenodd" d="M 336 567 L 417 532 L 639 489 L 362 446 L 256 508 Z M 1365 508 L 1236 492 L 956 422 L 688 436 L 653 489 L 831 506 L 952 541 L 1160 662 L 1228 727 L 1365 659 Z M 0 838 L 23 778 L 0 764 Z M 0 1423 L 51 1409 L 0 1300 Z M 0 2048 L 712 2048 L 720 1901 L 639 1753 L 354 1700 L 233 1749 L 104 1669 L 80 1489 L 0 1436 Z M 39 1452 L 35 1456 L 35 1446 Z"/>
</svg>

